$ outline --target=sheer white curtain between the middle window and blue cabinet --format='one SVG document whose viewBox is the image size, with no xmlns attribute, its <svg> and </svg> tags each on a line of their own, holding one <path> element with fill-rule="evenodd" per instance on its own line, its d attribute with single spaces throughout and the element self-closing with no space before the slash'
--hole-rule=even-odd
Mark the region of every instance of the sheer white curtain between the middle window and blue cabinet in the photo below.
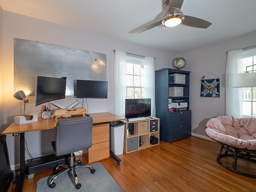
<svg viewBox="0 0 256 192">
<path fill-rule="evenodd" d="M 145 98 L 151 98 L 151 116 L 156 116 L 155 106 L 155 59 L 152 57 L 145 57 Z"/>
</svg>

